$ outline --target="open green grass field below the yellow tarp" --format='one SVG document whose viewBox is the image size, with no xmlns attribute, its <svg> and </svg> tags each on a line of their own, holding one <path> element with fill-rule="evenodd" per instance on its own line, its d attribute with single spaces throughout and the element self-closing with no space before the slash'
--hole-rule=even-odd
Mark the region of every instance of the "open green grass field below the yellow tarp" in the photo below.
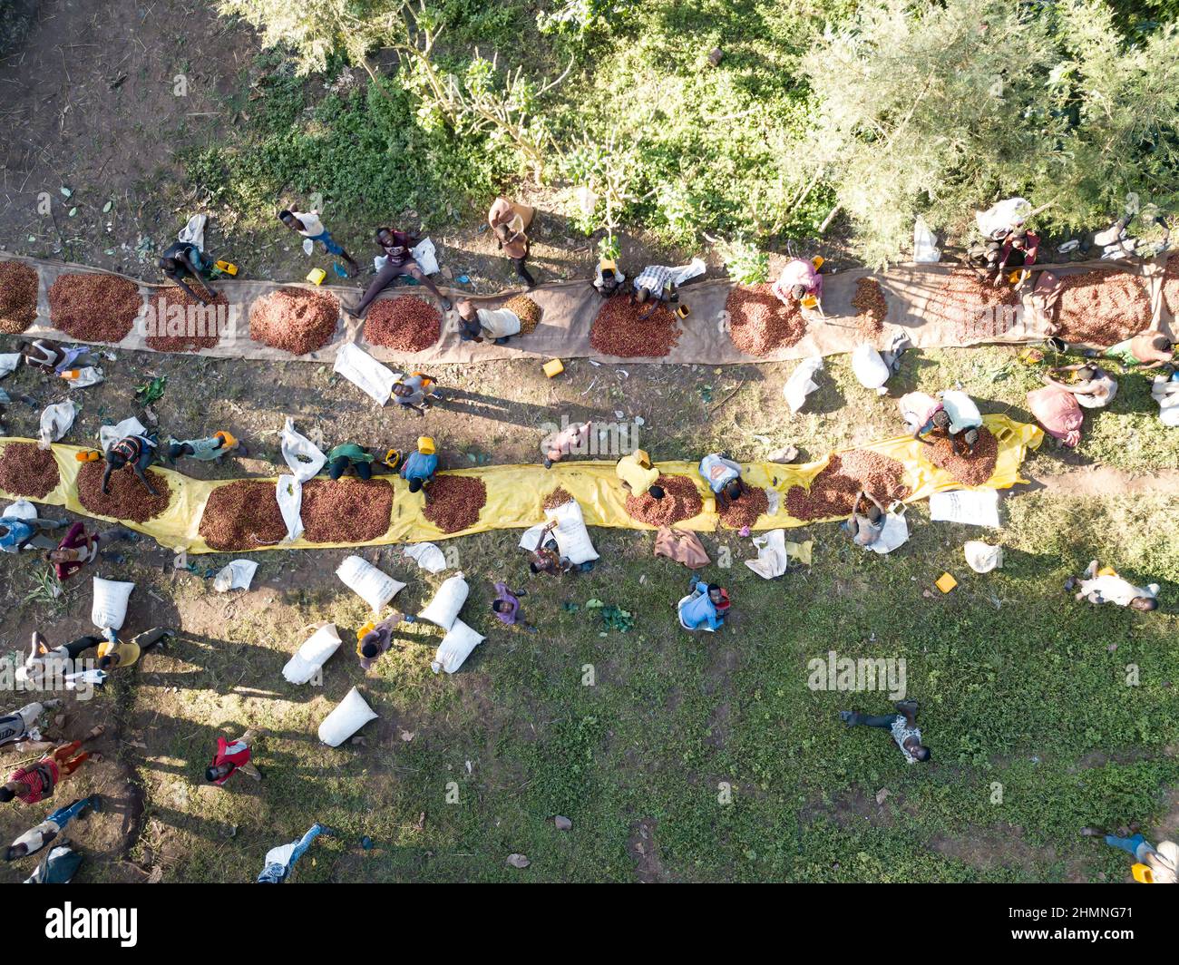
<svg viewBox="0 0 1179 965">
<path fill-rule="evenodd" d="M 176 880 L 246 879 L 314 820 L 377 847 L 317 845 L 303 881 L 632 880 L 640 822 L 651 867 L 670 880 L 1120 880 L 1120 856 L 1076 832 L 1148 826 L 1179 779 L 1177 508 L 1174 498 L 1027 494 L 1006 504 L 1001 533 L 980 533 L 929 524 L 918 506 L 910 543 L 889 558 L 815 527 L 810 570 L 777 582 L 739 564 L 707 571 L 738 615 L 713 637 L 676 625 L 686 572 L 652 557 L 650 536 L 612 531 L 594 532 L 594 575 L 532 582 L 526 610 L 541 634 L 495 629 L 489 582 L 505 570 L 523 579 L 523 557 L 513 533 L 473 537 L 460 545 L 473 585 L 463 617 L 488 639 L 453 677 L 430 674 L 436 637 L 415 626 L 374 676 L 362 680 L 345 641 L 324 688 L 285 684 L 279 668 L 307 623 L 334 619 L 347 637 L 367 618 L 334 587 L 231 619 L 212 644 L 178 644 L 179 694 L 160 685 L 174 667 L 158 681 L 146 668 L 133 724 L 152 748 L 139 764 L 147 814 L 173 828 Z M 980 536 L 1005 545 L 1002 571 L 964 566 L 961 545 Z M 722 539 L 735 559 L 749 554 Z M 1092 556 L 1158 580 L 1172 603 L 1153 615 L 1074 603 L 1061 584 Z M 943 570 L 961 585 L 926 597 Z M 430 592 L 415 573 L 399 603 L 414 610 Z M 631 610 L 635 628 L 607 634 L 584 606 L 562 606 L 591 597 Z M 905 659 L 933 766 L 905 766 L 885 735 L 837 720 L 849 705 L 884 711 L 884 695 L 806 688 L 806 661 L 829 649 Z M 1140 685 L 1125 684 L 1127 664 Z M 367 746 L 320 746 L 318 721 L 357 683 L 381 715 Z M 216 734 L 246 722 L 275 735 L 258 755 L 266 780 L 200 786 Z M 718 803 L 723 782 L 730 805 Z M 878 808 L 881 788 L 890 796 Z M 573 831 L 555 831 L 555 814 Z M 507 867 L 513 852 L 532 867 Z"/>
</svg>

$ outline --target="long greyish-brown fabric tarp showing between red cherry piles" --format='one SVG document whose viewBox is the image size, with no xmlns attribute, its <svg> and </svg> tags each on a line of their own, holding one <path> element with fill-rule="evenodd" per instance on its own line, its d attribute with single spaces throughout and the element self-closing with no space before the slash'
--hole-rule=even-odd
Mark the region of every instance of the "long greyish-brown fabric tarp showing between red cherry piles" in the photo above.
<svg viewBox="0 0 1179 965">
<path fill-rule="evenodd" d="M 35 268 L 40 276 L 38 294 L 37 323 L 28 329 L 35 337 L 68 340 L 62 333 L 50 327 L 50 304 L 47 291 L 50 285 L 61 275 L 71 273 L 93 273 L 95 269 L 78 264 L 25 258 L 0 252 L 0 260 L 20 261 Z M 1166 255 L 1154 262 L 1137 261 L 1088 261 L 1061 265 L 1036 265 L 1036 273 L 1050 269 L 1052 275 L 1062 277 L 1095 269 L 1121 269 L 1141 275 L 1154 309 L 1154 317 L 1171 321 L 1179 306 L 1164 304 L 1162 267 Z M 330 362 L 345 344 L 358 344 L 380 361 L 401 362 L 406 366 L 426 366 L 436 363 L 485 362 L 500 359 L 584 359 L 593 357 L 604 362 L 670 362 L 670 363 L 705 363 L 739 365 L 757 361 L 785 361 L 805 359 L 812 355 L 836 355 L 851 352 L 863 341 L 856 327 L 856 309 L 851 304 L 856 295 L 856 283 L 861 278 L 875 278 L 888 302 L 885 323 L 904 331 L 915 348 L 943 348 L 983 344 L 988 342 L 1027 342 L 1045 339 L 1050 334 L 1050 316 L 1054 296 L 1046 298 L 1038 295 L 1033 288 L 1034 281 L 1041 277 L 1033 275 L 1033 281 L 1026 285 L 1022 297 L 1023 311 L 992 316 L 981 311 L 977 320 L 963 324 L 959 319 L 947 314 L 943 294 L 944 285 L 955 273 L 974 274 L 954 264 L 900 264 L 888 271 L 872 273 L 868 269 L 855 269 L 824 276 L 823 311 L 808 313 L 808 331 L 803 339 L 790 346 L 764 356 L 746 355 L 731 341 L 727 334 L 725 302 L 733 284 L 722 280 L 705 280 L 685 285 L 681 300 L 691 306 L 691 314 L 680 323 L 681 335 L 671 354 L 659 359 L 619 359 L 600 355 L 590 344 L 590 329 L 602 306 L 601 296 L 588 281 L 553 282 L 539 285 L 528 293 L 542 310 L 536 329 L 528 335 L 514 337 L 507 344 L 496 346 L 489 341 L 481 343 L 463 342 L 459 337 L 455 313 L 449 313 L 442 326 L 442 337 L 437 344 L 416 355 L 404 355 L 388 348 L 369 344 L 364 341 L 363 322 L 341 315 L 334 340 L 318 352 L 308 355 L 291 355 L 288 352 L 268 348 L 250 340 L 250 306 L 278 288 L 314 288 L 305 283 L 282 284 L 278 282 L 255 281 L 217 281 L 210 288 L 223 293 L 230 303 L 230 333 L 220 343 L 211 349 L 202 349 L 200 355 L 238 359 L 258 359 L 277 361 Z M 99 273 L 113 274 L 113 273 Z M 120 276 L 126 277 L 126 276 Z M 130 278 L 139 287 L 140 295 L 146 298 L 166 285 L 146 284 L 137 278 Z M 321 291 L 328 291 L 348 304 L 356 302 L 360 290 L 343 285 L 321 285 Z M 508 297 L 518 293 L 500 293 L 498 295 L 474 296 L 457 289 L 443 289 L 450 298 L 470 297 L 479 308 L 499 308 Z M 382 297 L 400 295 L 417 295 L 434 303 L 429 293 L 421 287 L 397 285 L 386 291 Z M 981 306 L 980 306 L 981 308 Z M 889 337 L 882 340 L 891 341 Z M 140 331 L 134 326 L 131 333 L 119 342 L 119 348 L 150 352 Z"/>
</svg>

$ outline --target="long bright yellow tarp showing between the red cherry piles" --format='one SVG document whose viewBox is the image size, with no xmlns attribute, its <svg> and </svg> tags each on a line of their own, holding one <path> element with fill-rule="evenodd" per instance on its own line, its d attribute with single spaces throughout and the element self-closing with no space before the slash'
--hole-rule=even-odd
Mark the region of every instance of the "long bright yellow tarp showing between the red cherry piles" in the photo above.
<svg viewBox="0 0 1179 965">
<path fill-rule="evenodd" d="M 1038 448 L 1043 441 L 1043 432 L 1038 426 L 1016 422 L 1006 415 L 983 416 L 986 426 L 999 440 L 999 454 L 995 471 L 983 486 L 976 488 L 1007 488 L 1020 478 L 1020 465 L 1028 448 Z M 4 439 L 7 442 L 26 442 L 26 439 Z M 934 467 L 922 457 L 924 444 L 911 436 L 897 436 L 882 442 L 874 442 L 858 448 L 871 449 L 893 459 L 900 460 L 905 467 L 905 485 L 910 493 L 905 501 L 927 499 L 935 492 L 967 488 L 954 480 L 948 473 Z M 75 458 L 77 446 L 55 445 L 52 448 L 57 460 L 60 481 L 44 499 L 32 500 L 53 506 L 66 506 L 75 513 L 93 517 L 78 500 L 75 480 L 81 462 Z M 806 486 L 810 480 L 826 465 L 830 457 L 815 462 L 801 465 L 779 465 L 777 462 L 750 462 L 743 466 L 742 474 L 751 486 L 772 488 L 783 497 L 791 486 Z M 696 462 L 657 462 L 660 472 L 670 475 L 686 475 L 694 484 L 703 500 L 703 512 L 683 523 L 677 529 L 711 531 L 719 525 L 716 500 L 712 492 L 700 479 Z M 200 516 L 210 493 L 219 486 L 241 480 L 202 480 L 192 479 L 172 470 L 156 468 L 169 478 L 172 487 L 172 500 L 167 508 L 154 519 L 146 523 L 124 523 L 130 529 L 138 530 L 154 538 L 163 546 L 185 550 L 190 553 L 215 552 L 200 537 Z M 444 474 L 444 473 L 443 473 Z M 585 521 L 590 526 L 613 526 L 631 530 L 653 530 L 645 523 L 639 523 L 626 512 L 626 492 L 614 475 L 614 464 L 602 461 L 559 462 L 552 470 L 542 466 L 487 466 L 483 468 L 459 470 L 454 475 L 469 475 L 481 479 L 487 486 L 487 504 L 479 516 L 479 521 L 454 533 L 444 533 L 422 516 L 424 493 L 411 493 L 406 482 L 396 477 L 375 477 L 387 479 L 394 487 L 393 510 L 389 529 L 376 539 L 367 543 L 309 543 L 299 538 L 294 543 L 283 544 L 283 549 L 328 549 L 337 546 L 381 546 L 395 543 L 423 543 L 446 539 L 453 536 L 486 532 L 488 530 L 527 529 L 545 519 L 541 506 L 545 498 L 558 486 L 564 487 L 581 505 Z M 274 480 L 268 480 L 271 484 Z M 15 495 L 0 492 L 9 499 Z M 778 512 L 763 514 L 753 529 L 772 530 L 783 526 L 804 526 L 819 520 L 801 520 L 790 517 L 785 510 L 786 500 L 778 500 Z M 107 517 L 100 517 L 107 518 Z M 262 547 L 270 549 L 270 547 Z M 235 551 L 235 552 L 242 552 Z"/>
</svg>

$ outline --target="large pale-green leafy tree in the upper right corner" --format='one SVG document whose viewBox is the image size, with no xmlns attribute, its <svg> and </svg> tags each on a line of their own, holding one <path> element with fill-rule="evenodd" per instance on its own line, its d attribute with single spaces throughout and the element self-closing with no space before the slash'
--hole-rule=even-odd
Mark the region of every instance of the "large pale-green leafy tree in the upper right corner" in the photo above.
<svg viewBox="0 0 1179 965">
<path fill-rule="evenodd" d="M 1099 0 L 876 0 L 802 60 L 816 118 L 799 155 L 834 186 L 863 257 L 902 255 L 915 215 L 951 234 L 1020 193 L 1072 230 L 1128 192 L 1170 201 L 1179 35 L 1131 45 Z"/>
</svg>

